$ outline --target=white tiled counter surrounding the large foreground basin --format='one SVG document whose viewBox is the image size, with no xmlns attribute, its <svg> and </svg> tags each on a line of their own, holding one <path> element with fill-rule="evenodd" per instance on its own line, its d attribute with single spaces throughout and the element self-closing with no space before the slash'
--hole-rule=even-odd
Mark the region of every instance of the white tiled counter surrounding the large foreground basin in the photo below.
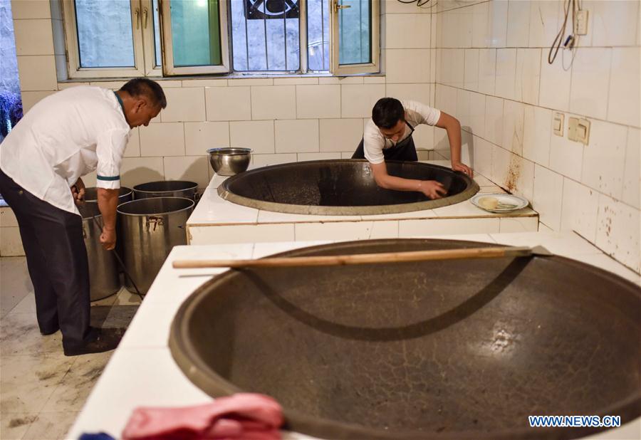
<svg viewBox="0 0 641 440">
<path fill-rule="evenodd" d="M 588 241 L 573 233 L 475 234 L 439 236 L 515 246 L 541 244 L 550 251 L 617 273 L 637 284 L 640 276 L 606 256 Z M 147 297 L 140 305 L 123 341 L 98 379 L 78 419 L 68 433 L 78 439 L 83 432 L 105 431 L 118 436 L 132 410 L 139 406 L 184 406 L 210 402 L 184 377 L 167 345 L 170 325 L 179 305 L 197 287 L 225 269 L 172 268 L 174 260 L 198 258 L 259 258 L 293 248 L 323 242 L 240 243 L 216 246 L 176 246 L 162 266 Z M 586 439 L 639 439 L 641 418 L 619 429 Z M 284 433 L 286 439 L 308 439 L 298 433 Z"/>
</svg>

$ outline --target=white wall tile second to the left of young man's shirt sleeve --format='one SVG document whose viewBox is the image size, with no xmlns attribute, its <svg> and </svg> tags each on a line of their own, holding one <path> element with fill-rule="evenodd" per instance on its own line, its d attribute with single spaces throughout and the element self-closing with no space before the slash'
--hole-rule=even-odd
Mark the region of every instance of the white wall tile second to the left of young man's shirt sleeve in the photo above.
<svg viewBox="0 0 641 440">
<path fill-rule="evenodd" d="M 276 120 L 276 152 L 318 152 L 318 120 Z"/>
</svg>

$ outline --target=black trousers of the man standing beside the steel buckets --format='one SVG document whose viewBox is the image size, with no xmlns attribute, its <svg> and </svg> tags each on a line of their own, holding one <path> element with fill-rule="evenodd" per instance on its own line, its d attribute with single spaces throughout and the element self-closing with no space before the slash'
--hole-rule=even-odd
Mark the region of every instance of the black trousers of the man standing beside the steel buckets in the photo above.
<svg viewBox="0 0 641 440">
<path fill-rule="evenodd" d="M 18 220 L 40 331 L 59 328 L 64 347 L 83 345 L 93 335 L 82 219 L 38 199 L 1 170 L 0 194 Z"/>
</svg>

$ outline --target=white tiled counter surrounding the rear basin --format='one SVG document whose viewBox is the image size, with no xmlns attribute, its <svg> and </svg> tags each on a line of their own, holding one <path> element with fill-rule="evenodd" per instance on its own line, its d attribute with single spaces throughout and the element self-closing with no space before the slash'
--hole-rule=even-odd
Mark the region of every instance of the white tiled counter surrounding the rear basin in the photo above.
<svg viewBox="0 0 641 440">
<path fill-rule="evenodd" d="M 448 161 L 426 163 L 448 166 Z M 418 235 L 495 234 L 538 231 L 538 214 L 530 208 L 492 214 L 471 201 L 424 211 L 365 216 L 283 214 L 231 203 L 217 189 L 226 177 L 215 175 L 187 221 L 190 244 L 274 241 L 363 240 Z M 476 174 L 481 193 L 504 193 Z"/>
</svg>

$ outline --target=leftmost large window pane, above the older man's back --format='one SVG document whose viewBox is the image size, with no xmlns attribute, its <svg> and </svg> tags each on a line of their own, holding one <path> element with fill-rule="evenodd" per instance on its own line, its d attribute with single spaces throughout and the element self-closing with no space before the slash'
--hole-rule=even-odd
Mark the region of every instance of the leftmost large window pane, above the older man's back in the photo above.
<svg viewBox="0 0 641 440">
<path fill-rule="evenodd" d="M 134 67 L 129 0 L 75 0 L 80 67 Z"/>
</svg>

